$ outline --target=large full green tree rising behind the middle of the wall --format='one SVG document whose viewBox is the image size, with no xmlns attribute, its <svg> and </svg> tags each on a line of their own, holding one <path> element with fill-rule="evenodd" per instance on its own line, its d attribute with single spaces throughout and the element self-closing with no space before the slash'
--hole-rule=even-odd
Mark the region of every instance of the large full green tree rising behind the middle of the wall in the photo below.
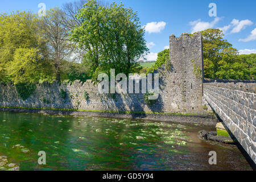
<svg viewBox="0 0 256 182">
<path fill-rule="evenodd" d="M 148 51 L 138 14 L 122 4 L 102 6 L 90 0 L 77 18 L 82 26 L 72 30 L 71 38 L 85 49 L 83 63 L 89 65 L 94 79 L 100 72 L 109 73 L 110 68 L 116 74 L 132 72 Z"/>
</svg>

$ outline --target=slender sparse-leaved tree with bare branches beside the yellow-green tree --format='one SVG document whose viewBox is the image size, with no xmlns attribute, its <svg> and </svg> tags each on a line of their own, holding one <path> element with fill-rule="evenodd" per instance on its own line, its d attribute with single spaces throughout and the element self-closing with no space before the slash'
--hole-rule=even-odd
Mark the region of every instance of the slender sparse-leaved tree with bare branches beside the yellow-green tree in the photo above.
<svg viewBox="0 0 256 182">
<path fill-rule="evenodd" d="M 75 44 L 69 40 L 69 28 L 65 26 L 64 13 L 59 8 L 50 9 L 41 20 L 42 35 L 47 40 L 49 59 L 55 67 L 56 81 L 60 82 L 60 66 L 71 59 Z"/>
</svg>

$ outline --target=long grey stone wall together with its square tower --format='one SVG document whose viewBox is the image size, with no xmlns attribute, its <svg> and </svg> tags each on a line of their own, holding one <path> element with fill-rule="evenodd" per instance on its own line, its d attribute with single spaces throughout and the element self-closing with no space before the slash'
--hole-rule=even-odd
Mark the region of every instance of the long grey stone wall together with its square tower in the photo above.
<svg viewBox="0 0 256 182">
<path fill-rule="evenodd" d="M 99 94 L 97 84 L 91 81 L 84 84 L 75 81 L 67 85 L 44 82 L 37 85 L 35 92 L 26 101 L 18 97 L 13 84 L 0 85 L 0 106 L 206 114 L 202 101 L 201 34 L 182 34 L 180 38 L 171 35 L 170 53 L 171 67 L 163 65 L 154 72 L 159 73 L 159 98 L 152 106 L 144 102 L 142 93 Z M 67 98 L 59 96 L 61 89 L 67 92 Z M 85 91 L 89 94 L 88 100 L 84 98 Z"/>
</svg>

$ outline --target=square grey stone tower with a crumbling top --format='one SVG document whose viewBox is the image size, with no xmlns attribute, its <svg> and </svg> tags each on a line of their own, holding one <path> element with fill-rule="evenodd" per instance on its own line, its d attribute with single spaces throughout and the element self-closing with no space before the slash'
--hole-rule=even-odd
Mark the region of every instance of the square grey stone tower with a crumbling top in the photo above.
<svg viewBox="0 0 256 182">
<path fill-rule="evenodd" d="M 175 90 L 175 101 L 181 113 L 204 114 L 203 41 L 200 32 L 170 36 L 171 75 L 168 84 Z M 174 110 L 174 108 L 171 108 Z"/>
</svg>

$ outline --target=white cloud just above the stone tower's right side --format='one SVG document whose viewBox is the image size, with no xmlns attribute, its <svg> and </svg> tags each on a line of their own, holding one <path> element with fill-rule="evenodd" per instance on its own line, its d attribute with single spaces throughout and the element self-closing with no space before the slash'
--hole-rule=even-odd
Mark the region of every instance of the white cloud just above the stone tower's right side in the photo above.
<svg viewBox="0 0 256 182">
<path fill-rule="evenodd" d="M 189 24 L 192 26 L 192 33 L 206 30 L 208 28 L 213 28 L 218 21 L 220 21 L 220 17 L 214 18 L 212 22 L 201 22 L 201 19 L 195 20 L 193 22 L 189 22 Z"/>
</svg>

